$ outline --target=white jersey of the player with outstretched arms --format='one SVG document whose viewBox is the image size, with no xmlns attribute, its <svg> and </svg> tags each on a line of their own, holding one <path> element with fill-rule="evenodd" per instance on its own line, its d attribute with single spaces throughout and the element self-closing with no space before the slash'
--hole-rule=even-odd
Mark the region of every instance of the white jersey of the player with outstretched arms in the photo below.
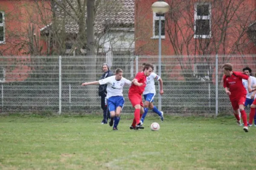
<svg viewBox="0 0 256 170">
<path fill-rule="evenodd" d="M 116 76 L 110 76 L 108 78 L 99 80 L 99 84 L 108 84 L 107 86 L 107 98 L 112 96 L 123 96 L 122 89 L 124 85 L 131 85 L 131 81 L 127 80 L 126 78 L 122 78 L 121 80 L 117 81 Z"/>
</svg>

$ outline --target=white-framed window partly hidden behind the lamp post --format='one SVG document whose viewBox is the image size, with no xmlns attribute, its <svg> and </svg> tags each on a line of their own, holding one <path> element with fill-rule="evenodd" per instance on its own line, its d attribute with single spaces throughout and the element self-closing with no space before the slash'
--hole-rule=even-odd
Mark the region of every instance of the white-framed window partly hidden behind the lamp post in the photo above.
<svg viewBox="0 0 256 170">
<path fill-rule="evenodd" d="M 153 12 L 153 37 L 159 38 L 159 18 L 161 20 L 161 38 L 165 38 L 165 16 L 164 14 L 158 14 Z"/>
</svg>

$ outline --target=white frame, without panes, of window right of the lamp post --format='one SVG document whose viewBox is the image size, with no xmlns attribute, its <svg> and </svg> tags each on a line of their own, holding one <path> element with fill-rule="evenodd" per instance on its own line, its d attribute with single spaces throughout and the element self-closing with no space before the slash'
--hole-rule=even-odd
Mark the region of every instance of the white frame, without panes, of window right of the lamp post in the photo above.
<svg viewBox="0 0 256 170">
<path fill-rule="evenodd" d="M 209 5 L 209 15 L 207 16 L 202 16 L 202 15 L 197 15 L 197 7 L 199 5 Z M 211 3 L 195 3 L 194 6 L 194 38 L 211 38 L 212 37 L 212 4 Z M 209 28 L 210 32 L 209 35 L 196 35 L 196 20 L 209 20 Z"/>
</svg>

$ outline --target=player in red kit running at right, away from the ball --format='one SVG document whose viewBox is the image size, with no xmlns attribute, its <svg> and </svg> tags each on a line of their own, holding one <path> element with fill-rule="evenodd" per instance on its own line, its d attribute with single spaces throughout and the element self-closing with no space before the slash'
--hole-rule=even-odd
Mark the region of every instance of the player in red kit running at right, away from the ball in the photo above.
<svg viewBox="0 0 256 170">
<path fill-rule="evenodd" d="M 241 125 L 239 111 L 241 112 L 241 117 L 244 121 L 244 131 L 248 132 L 247 127 L 247 115 L 244 111 L 244 103 L 246 100 L 247 91 L 244 88 L 242 79 L 248 80 L 248 91 L 251 92 L 250 78 L 248 75 L 241 72 L 233 72 L 233 66 L 230 63 L 225 63 L 222 66 L 224 76 L 223 76 L 223 86 L 225 88 L 226 94 L 229 95 L 234 115 L 236 117 L 237 123 Z"/>
</svg>

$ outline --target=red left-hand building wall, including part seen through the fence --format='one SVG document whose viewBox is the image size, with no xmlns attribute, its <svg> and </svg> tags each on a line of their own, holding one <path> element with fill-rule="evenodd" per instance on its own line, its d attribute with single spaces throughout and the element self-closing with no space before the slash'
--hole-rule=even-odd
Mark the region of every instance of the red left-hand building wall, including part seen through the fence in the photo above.
<svg viewBox="0 0 256 170">
<path fill-rule="evenodd" d="M 41 40 L 39 31 L 40 28 L 50 23 L 49 9 L 50 1 L 48 0 L 0 1 L 0 11 L 5 13 L 6 38 L 6 42 L 0 44 L 0 56 L 2 55 L 0 62 L 1 67 L 6 70 L 6 82 L 23 81 L 29 76 L 32 68 L 27 66 L 26 61 L 30 58 L 24 55 L 33 55 L 29 53 L 30 43 L 34 43 L 35 48 L 36 46 L 38 49 L 42 48 L 41 54 L 46 51 L 45 42 Z M 19 57 L 9 57 L 9 55 L 19 55 Z"/>
</svg>

